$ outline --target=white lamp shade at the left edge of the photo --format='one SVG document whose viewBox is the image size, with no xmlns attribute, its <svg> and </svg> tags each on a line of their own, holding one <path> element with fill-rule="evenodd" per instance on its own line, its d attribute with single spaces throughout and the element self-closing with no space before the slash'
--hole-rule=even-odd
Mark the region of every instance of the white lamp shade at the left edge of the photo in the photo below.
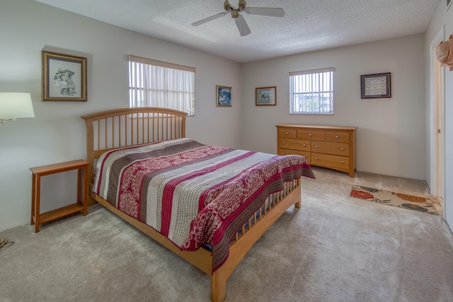
<svg viewBox="0 0 453 302">
<path fill-rule="evenodd" d="M 30 93 L 0 93 L 0 120 L 35 117 Z"/>
</svg>

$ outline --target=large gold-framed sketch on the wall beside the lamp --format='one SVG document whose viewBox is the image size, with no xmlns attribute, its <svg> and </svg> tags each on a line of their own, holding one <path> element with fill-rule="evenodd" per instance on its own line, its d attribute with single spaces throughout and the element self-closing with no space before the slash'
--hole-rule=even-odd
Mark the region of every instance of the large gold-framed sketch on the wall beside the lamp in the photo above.
<svg viewBox="0 0 453 302">
<path fill-rule="evenodd" d="M 86 58 L 42 50 L 42 100 L 86 102 Z"/>
</svg>

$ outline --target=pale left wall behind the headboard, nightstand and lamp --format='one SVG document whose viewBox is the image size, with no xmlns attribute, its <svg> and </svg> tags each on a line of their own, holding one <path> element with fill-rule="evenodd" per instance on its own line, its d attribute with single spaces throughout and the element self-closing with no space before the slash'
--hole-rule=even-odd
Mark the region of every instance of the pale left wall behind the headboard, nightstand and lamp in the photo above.
<svg viewBox="0 0 453 302">
<path fill-rule="evenodd" d="M 236 62 L 33 0 L 0 0 L 0 28 L 0 92 L 31 93 L 36 116 L 0 124 L 0 231 L 30 223 L 30 167 L 86 158 L 81 115 L 128 106 L 127 54 L 195 67 L 195 117 L 188 117 L 188 137 L 240 147 Z M 41 50 L 88 58 L 88 102 L 41 102 Z M 215 107 L 216 85 L 233 87 L 231 108 Z M 67 192 L 74 179 L 74 173 L 42 178 L 42 207 L 75 202 Z"/>
</svg>

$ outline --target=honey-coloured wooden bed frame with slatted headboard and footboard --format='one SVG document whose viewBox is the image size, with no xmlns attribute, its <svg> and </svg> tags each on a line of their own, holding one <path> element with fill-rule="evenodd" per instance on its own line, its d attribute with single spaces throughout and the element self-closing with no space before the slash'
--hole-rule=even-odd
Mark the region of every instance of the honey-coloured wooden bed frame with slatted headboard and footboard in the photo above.
<svg viewBox="0 0 453 302">
<path fill-rule="evenodd" d="M 146 144 L 154 141 L 165 141 L 185 137 L 185 117 L 187 113 L 164 108 L 125 108 L 85 115 L 86 124 L 86 157 L 88 179 L 93 183 L 93 167 L 96 160 L 105 151 L 124 146 Z M 91 192 L 91 190 L 90 190 Z M 161 233 L 147 224 L 133 219 L 113 207 L 105 199 L 91 192 L 88 204 L 98 202 L 117 216 L 132 224 L 140 231 L 175 252 L 195 267 L 211 275 L 211 299 L 214 302 L 225 298 L 226 279 L 254 243 L 292 204 L 301 207 L 300 179 L 285 182 L 284 189 L 271 194 L 257 215 L 248 219 L 230 243 L 229 257 L 224 264 L 212 273 L 212 254 L 210 250 L 200 248 L 196 251 L 180 250 Z"/>
</svg>

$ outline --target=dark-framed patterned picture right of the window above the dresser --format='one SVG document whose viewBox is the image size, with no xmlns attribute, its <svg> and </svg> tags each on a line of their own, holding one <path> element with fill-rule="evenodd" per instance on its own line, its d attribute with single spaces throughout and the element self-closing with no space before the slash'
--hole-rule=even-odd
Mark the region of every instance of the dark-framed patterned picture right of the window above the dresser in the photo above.
<svg viewBox="0 0 453 302">
<path fill-rule="evenodd" d="M 391 98 L 390 73 L 360 76 L 362 98 Z"/>
</svg>

